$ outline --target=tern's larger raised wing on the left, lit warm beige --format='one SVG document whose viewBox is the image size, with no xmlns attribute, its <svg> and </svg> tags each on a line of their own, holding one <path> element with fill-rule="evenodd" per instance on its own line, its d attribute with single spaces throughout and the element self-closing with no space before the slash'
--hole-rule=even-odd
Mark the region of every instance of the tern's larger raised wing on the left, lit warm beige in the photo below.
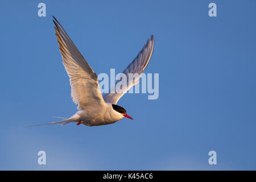
<svg viewBox="0 0 256 182">
<path fill-rule="evenodd" d="M 93 69 L 85 61 L 75 44 L 59 21 L 53 16 L 56 38 L 60 46 L 60 53 L 64 67 L 69 76 L 71 96 L 73 102 L 78 104 L 77 109 L 86 106 L 104 104 L 103 97 L 98 87 L 98 78 Z"/>
</svg>

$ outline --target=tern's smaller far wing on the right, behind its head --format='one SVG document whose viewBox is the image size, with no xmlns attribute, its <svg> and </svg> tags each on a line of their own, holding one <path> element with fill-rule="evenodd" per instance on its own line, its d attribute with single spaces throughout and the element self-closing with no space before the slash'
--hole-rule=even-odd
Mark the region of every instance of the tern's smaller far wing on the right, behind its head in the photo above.
<svg viewBox="0 0 256 182">
<path fill-rule="evenodd" d="M 150 58 L 152 56 L 152 52 L 154 49 L 154 36 L 151 36 L 151 39 L 147 40 L 147 43 L 144 45 L 142 50 L 138 53 L 137 57 L 131 62 L 128 67 L 123 71 L 127 78 L 127 86 L 126 89 L 123 89 L 124 92 L 117 92 L 115 88 L 110 89 L 108 94 L 104 94 L 105 102 L 109 102 L 112 104 L 117 104 L 118 100 L 129 90 L 132 86 L 136 85 L 139 82 L 139 78 L 141 77 L 144 69 L 147 67 Z M 129 73 L 134 74 L 134 78 L 129 79 Z M 137 74 L 136 74 L 137 73 Z M 115 86 L 117 86 L 118 82 L 115 82 Z"/>
</svg>

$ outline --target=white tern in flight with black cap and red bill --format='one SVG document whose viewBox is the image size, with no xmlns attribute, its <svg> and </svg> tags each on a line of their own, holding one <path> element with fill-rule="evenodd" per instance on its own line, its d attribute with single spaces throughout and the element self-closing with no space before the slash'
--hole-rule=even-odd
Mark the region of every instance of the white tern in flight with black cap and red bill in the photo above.
<svg viewBox="0 0 256 182">
<path fill-rule="evenodd" d="M 63 59 L 65 70 L 68 73 L 71 85 L 71 96 L 73 102 L 78 104 L 79 111 L 72 117 L 59 122 L 52 122 L 42 125 L 61 124 L 66 125 L 70 122 L 81 123 L 86 126 L 108 125 L 119 121 L 125 117 L 131 118 L 123 107 L 116 105 L 118 100 L 127 90 L 138 83 L 141 74 L 147 67 L 154 48 L 154 36 L 147 40 L 137 57 L 131 62 L 123 73 L 128 77 L 129 73 L 138 73 L 134 80 L 127 80 L 125 92 L 109 92 L 102 96 L 98 86 L 96 73 L 81 55 L 75 44 L 69 38 L 67 32 L 61 26 L 59 21 L 53 16 L 53 23 L 56 31 L 57 42 L 60 47 L 60 53 Z M 118 81 L 115 83 L 115 85 Z M 41 125 L 34 125 L 41 126 Z"/>
</svg>

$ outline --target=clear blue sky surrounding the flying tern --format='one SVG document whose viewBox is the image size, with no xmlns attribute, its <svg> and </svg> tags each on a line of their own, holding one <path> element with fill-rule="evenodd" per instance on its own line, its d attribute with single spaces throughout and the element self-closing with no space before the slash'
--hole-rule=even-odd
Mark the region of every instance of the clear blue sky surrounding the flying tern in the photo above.
<svg viewBox="0 0 256 182">
<path fill-rule="evenodd" d="M 38 3 L 46 3 L 46 17 Z M 215 2 L 217 16 L 209 17 Z M 0 169 L 256 169 L 256 1 L 1 1 Z M 56 16 L 94 71 L 123 69 L 151 34 L 159 98 L 125 94 L 113 125 L 20 127 L 76 112 Z M 38 151 L 46 151 L 46 165 Z M 209 165 L 208 152 L 217 152 Z"/>
</svg>

